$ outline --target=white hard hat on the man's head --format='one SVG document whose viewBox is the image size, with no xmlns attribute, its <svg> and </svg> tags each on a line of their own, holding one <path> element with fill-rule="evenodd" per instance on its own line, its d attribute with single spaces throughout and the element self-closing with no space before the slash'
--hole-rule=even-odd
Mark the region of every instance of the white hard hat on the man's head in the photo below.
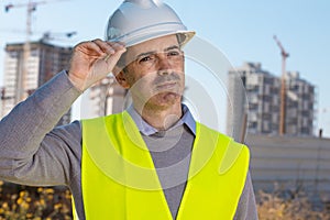
<svg viewBox="0 0 330 220">
<path fill-rule="evenodd" d="M 158 0 L 124 0 L 109 19 L 106 40 L 133 46 L 170 34 L 177 34 L 184 45 L 195 32 L 188 31 L 175 11 Z"/>
</svg>

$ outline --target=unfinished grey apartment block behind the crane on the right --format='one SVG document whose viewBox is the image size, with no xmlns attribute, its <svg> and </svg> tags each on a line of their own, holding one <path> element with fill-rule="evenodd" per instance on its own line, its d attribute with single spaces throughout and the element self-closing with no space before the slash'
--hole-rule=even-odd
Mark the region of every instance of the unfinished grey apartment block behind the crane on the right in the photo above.
<svg viewBox="0 0 330 220">
<path fill-rule="evenodd" d="M 239 76 L 244 85 L 244 91 L 237 90 Z M 239 78 L 238 77 L 238 78 Z M 314 135 L 315 122 L 315 87 L 299 78 L 297 73 L 286 76 L 286 120 L 287 135 Z M 238 98 L 245 95 L 248 105 Z M 244 94 L 245 92 L 245 94 Z M 260 63 L 245 63 L 243 66 L 229 72 L 229 98 L 232 108 L 243 109 L 232 117 L 248 113 L 248 132 L 253 134 L 278 134 L 280 78 L 262 68 Z M 229 116 L 230 117 L 230 116 Z M 228 125 L 229 128 L 229 125 Z"/>
</svg>

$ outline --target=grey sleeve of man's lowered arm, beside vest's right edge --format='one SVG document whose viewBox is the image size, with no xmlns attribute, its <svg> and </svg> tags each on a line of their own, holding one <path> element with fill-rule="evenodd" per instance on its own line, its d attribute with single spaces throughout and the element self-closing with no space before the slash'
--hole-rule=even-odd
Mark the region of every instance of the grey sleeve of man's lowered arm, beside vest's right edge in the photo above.
<svg viewBox="0 0 330 220">
<path fill-rule="evenodd" d="M 250 172 L 241 195 L 234 220 L 257 220 L 257 210 Z"/>
</svg>

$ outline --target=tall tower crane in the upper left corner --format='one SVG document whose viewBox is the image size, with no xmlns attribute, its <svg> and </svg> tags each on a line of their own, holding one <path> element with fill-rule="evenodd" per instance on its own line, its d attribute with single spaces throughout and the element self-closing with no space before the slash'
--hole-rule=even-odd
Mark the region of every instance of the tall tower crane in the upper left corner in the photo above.
<svg viewBox="0 0 330 220">
<path fill-rule="evenodd" d="M 23 46 L 23 67 L 22 72 L 18 73 L 16 76 L 16 96 L 15 96 L 15 103 L 24 100 L 28 97 L 28 94 L 25 91 L 25 77 L 28 76 L 28 59 L 30 57 L 30 38 L 32 35 L 32 29 L 31 29 L 31 21 L 32 21 L 32 13 L 36 10 L 36 7 L 38 4 L 46 4 L 50 2 L 55 2 L 55 1 L 67 1 L 67 0 L 53 0 L 53 1 L 32 1 L 29 0 L 28 3 L 18 3 L 18 4 L 7 4 L 4 7 L 4 11 L 9 12 L 13 8 L 26 8 L 26 38 L 25 43 Z"/>
</svg>

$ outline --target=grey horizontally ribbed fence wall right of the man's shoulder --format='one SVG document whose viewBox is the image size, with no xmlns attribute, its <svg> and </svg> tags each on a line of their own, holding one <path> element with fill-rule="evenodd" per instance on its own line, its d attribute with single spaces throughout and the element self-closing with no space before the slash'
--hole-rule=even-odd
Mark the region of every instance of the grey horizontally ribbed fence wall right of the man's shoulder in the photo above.
<svg viewBox="0 0 330 220">
<path fill-rule="evenodd" d="M 248 134 L 254 190 L 307 193 L 330 201 L 330 139 Z"/>
</svg>

